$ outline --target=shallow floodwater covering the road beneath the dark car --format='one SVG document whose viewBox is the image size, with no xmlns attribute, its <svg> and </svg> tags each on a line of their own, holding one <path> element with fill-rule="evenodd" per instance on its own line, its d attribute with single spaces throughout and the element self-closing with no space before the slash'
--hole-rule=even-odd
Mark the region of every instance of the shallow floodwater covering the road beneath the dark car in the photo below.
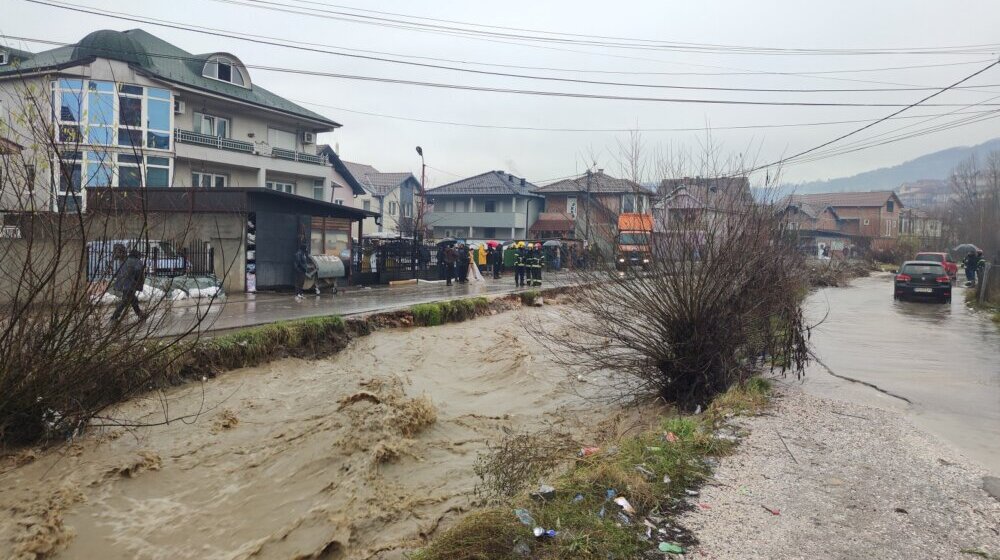
<svg viewBox="0 0 1000 560">
<path fill-rule="evenodd" d="M 821 363 L 810 365 L 804 386 L 901 410 L 1000 475 L 1000 329 L 966 309 L 963 295 L 957 288 L 950 305 L 896 302 L 886 275 L 813 293 L 807 313 L 823 320 L 812 337 Z"/>
</svg>

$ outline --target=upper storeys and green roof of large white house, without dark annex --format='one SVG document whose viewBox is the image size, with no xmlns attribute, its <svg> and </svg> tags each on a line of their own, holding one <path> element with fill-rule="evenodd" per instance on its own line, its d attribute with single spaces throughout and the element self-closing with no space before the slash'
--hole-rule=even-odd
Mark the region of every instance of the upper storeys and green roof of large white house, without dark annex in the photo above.
<svg viewBox="0 0 1000 560">
<path fill-rule="evenodd" d="M 58 181 L 38 174 L 40 207 L 84 205 L 92 187 L 266 187 L 352 199 L 336 191 L 316 149 L 316 136 L 340 124 L 255 84 L 231 53 L 191 54 L 141 29 L 96 31 L 40 53 L 0 51 L 5 120 L 16 122 L 32 92 L 51 99 L 66 150 Z"/>
</svg>

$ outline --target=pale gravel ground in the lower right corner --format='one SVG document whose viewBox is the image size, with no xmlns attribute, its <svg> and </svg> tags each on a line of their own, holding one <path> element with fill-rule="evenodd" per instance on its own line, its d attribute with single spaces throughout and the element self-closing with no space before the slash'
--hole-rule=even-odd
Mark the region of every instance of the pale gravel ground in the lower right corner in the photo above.
<svg viewBox="0 0 1000 560">
<path fill-rule="evenodd" d="M 1000 558 L 986 473 L 899 414 L 783 388 L 740 423 L 697 498 L 711 509 L 682 519 L 701 540 L 686 558 Z"/>
</svg>

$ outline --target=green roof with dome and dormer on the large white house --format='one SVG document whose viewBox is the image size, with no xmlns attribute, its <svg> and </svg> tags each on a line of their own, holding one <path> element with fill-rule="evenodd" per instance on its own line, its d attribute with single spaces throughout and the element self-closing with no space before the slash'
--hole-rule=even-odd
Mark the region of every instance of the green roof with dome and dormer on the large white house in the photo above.
<svg viewBox="0 0 1000 560">
<path fill-rule="evenodd" d="M 244 88 L 206 78 L 201 75 L 205 61 L 217 53 L 191 54 L 142 29 L 95 31 L 75 45 L 36 54 L 10 50 L 12 64 L 0 67 L 0 77 L 35 70 L 57 70 L 94 57 L 109 58 L 127 62 L 152 77 L 319 121 L 331 128 L 340 126 L 339 123 L 300 107 L 256 84 Z"/>
</svg>

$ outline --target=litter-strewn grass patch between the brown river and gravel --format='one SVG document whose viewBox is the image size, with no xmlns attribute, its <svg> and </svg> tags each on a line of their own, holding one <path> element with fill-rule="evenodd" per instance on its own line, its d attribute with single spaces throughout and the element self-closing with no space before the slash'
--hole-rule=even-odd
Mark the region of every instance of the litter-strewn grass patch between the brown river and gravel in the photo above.
<svg viewBox="0 0 1000 560">
<path fill-rule="evenodd" d="M 642 520 L 650 515 L 669 518 L 684 507 L 685 491 L 699 486 L 711 472 L 705 459 L 725 455 L 735 445 L 715 437 L 720 419 L 759 412 L 767 406 L 769 391 L 769 383 L 752 379 L 718 397 L 706 414 L 663 418 L 652 429 L 606 442 L 600 452 L 587 457 L 574 459 L 565 451 L 555 456 L 533 451 L 541 457 L 537 469 L 522 465 L 511 471 L 522 476 L 522 487 L 534 482 L 545 465 L 570 463 L 565 472 L 549 475 L 556 488 L 553 499 L 539 501 L 522 491 L 505 502 L 506 508 L 470 514 L 412 558 L 640 558 L 655 546 L 644 539 L 646 527 Z M 536 440 L 524 434 L 510 435 L 494 449 L 503 451 L 499 457 L 506 457 L 529 450 L 532 441 Z M 498 454 L 492 453 L 488 456 L 492 462 L 481 461 L 481 466 L 496 467 Z M 510 464 L 508 459 L 505 466 Z M 497 474 L 495 470 L 487 473 Z M 515 486 L 513 480 L 505 488 Z M 628 524 L 622 521 L 622 509 L 609 499 L 609 490 L 625 497 L 635 509 L 635 514 L 628 516 Z M 535 539 L 531 528 L 518 521 L 514 514 L 517 508 L 528 510 L 538 526 L 555 529 L 558 535 Z M 685 545 L 694 542 L 686 533 L 672 540 Z"/>
</svg>

